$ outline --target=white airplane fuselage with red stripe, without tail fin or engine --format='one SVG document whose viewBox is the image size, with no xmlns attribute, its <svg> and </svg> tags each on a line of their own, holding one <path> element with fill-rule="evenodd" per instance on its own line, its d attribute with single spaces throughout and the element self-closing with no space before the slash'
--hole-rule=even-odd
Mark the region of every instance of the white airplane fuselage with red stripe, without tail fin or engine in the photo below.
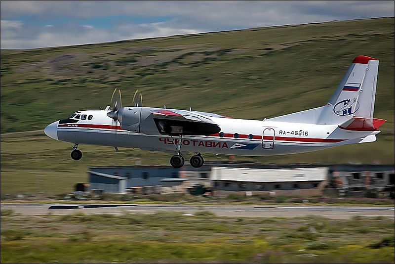
<svg viewBox="0 0 395 264">
<path fill-rule="evenodd" d="M 178 136 L 130 132 L 107 116 L 106 110 L 80 111 L 92 116 L 71 124 L 56 121 L 45 129 L 50 137 L 71 143 L 175 152 Z M 183 136 L 181 153 L 199 152 L 246 156 L 302 153 L 358 143 L 377 132 L 356 132 L 338 125 L 258 121 L 211 117 L 221 132 L 208 136 Z"/>
</svg>

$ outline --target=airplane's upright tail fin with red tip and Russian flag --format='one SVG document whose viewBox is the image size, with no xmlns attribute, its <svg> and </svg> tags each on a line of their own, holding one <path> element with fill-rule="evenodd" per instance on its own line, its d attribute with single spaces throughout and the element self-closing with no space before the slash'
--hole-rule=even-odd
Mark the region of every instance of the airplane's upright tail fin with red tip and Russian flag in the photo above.
<svg viewBox="0 0 395 264">
<path fill-rule="evenodd" d="M 342 124 L 352 117 L 373 121 L 379 61 L 357 56 L 346 75 L 323 107 L 317 124 Z"/>
</svg>

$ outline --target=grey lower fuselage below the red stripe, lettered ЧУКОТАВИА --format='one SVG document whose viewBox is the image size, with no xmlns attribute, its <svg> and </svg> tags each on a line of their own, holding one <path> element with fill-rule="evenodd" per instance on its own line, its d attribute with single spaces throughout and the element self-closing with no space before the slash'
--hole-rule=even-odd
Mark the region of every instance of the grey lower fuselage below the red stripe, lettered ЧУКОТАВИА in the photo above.
<svg viewBox="0 0 395 264">
<path fill-rule="evenodd" d="M 135 132 L 93 131 L 67 128 L 58 130 L 59 140 L 102 146 L 140 148 L 143 150 L 175 152 L 179 138 L 167 135 L 146 135 Z M 174 141 L 173 141 L 174 140 Z M 272 149 L 265 149 L 261 140 L 191 137 L 182 139 L 181 152 L 200 152 L 240 156 L 272 156 L 303 153 L 332 147 L 332 144 L 291 144 L 275 141 Z"/>
</svg>

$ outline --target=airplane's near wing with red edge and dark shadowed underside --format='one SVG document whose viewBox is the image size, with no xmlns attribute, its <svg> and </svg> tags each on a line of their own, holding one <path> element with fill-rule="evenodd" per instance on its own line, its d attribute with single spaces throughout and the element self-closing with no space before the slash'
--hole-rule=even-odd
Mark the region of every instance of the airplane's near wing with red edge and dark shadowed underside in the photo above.
<svg viewBox="0 0 395 264">
<path fill-rule="evenodd" d="M 157 109 L 152 112 L 161 134 L 210 135 L 221 128 L 203 113 L 176 109 Z"/>
</svg>

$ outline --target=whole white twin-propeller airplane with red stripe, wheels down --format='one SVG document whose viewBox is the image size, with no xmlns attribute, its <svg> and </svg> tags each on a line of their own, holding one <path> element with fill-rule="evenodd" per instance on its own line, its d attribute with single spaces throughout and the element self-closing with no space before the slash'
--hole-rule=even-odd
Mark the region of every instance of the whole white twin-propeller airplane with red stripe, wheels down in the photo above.
<svg viewBox="0 0 395 264">
<path fill-rule="evenodd" d="M 324 106 L 264 120 L 233 119 L 193 110 L 143 107 L 141 93 L 133 106 L 122 107 L 114 90 L 104 110 L 83 110 L 48 125 L 47 136 L 79 144 L 173 152 L 173 168 L 184 166 L 183 155 L 194 168 L 203 165 L 200 153 L 267 156 L 310 152 L 376 140 L 386 122 L 373 118 L 379 60 L 356 56 L 346 75 Z M 136 96 L 137 95 L 137 96 Z M 136 100 L 137 98 L 137 100 Z"/>
</svg>

